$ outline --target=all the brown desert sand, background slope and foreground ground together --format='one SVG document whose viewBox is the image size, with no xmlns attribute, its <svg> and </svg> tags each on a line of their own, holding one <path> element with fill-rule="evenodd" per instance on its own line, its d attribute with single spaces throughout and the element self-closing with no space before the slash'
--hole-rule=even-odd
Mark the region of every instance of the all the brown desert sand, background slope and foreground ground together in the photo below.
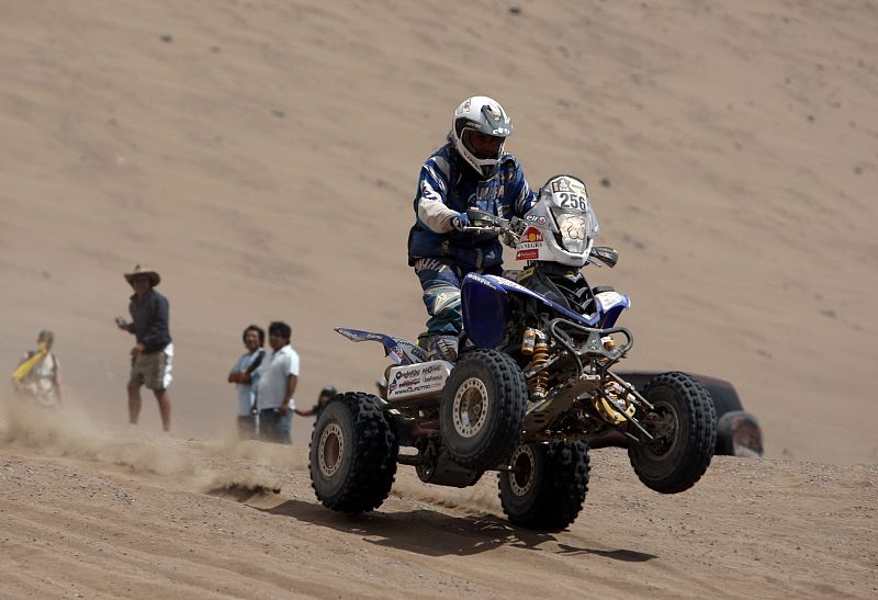
<svg viewBox="0 0 878 600">
<path fill-rule="evenodd" d="M 0 394 L 0 596 L 875 597 L 876 31 L 853 0 L 4 3 L 0 363 L 52 329 L 68 403 Z M 765 459 L 665 497 L 595 451 L 538 534 L 491 475 L 324 509 L 311 419 L 230 441 L 248 324 L 291 324 L 305 408 L 385 366 L 334 327 L 423 329 L 415 182 L 473 94 L 532 185 L 587 182 L 624 366 L 733 383 Z M 136 263 L 171 303 L 170 437 L 150 397 L 126 424 Z"/>
</svg>

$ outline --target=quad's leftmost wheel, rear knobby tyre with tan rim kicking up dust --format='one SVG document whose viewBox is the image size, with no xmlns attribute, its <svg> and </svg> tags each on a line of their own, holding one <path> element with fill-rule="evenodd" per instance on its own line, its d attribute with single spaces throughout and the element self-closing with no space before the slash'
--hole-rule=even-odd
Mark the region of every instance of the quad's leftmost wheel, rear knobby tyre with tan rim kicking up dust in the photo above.
<svg viewBox="0 0 878 600">
<path fill-rule="evenodd" d="M 399 446 L 378 398 L 361 392 L 336 396 L 311 434 L 311 485 L 323 506 L 340 512 L 373 510 L 387 498 Z"/>
</svg>

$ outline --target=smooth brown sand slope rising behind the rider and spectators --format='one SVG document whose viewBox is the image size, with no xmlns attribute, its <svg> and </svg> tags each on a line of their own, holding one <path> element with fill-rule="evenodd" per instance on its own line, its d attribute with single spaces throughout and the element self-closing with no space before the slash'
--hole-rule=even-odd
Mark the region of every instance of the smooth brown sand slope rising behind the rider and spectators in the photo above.
<svg viewBox="0 0 878 600">
<path fill-rule="evenodd" d="M 148 262 L 171 299 L 179 432 L 229 427 L 224 375 L 251 321 L 293 325 L 301 403 L 368 388 L 380 352 L 331 328 L 421 330 L 417 170 L 453 106 L 491 93 L 534 185 L 590 183 L 621 251 L 593 279 L 634 302 L 629 366 L 730 380 L 769 455 L 875 461 L 875 5 L 520 8 L 12 3 L 7 363 L 50 327 L 76 396 L 124 418 L 111 319 L 121 273 Z"/>
</svg>

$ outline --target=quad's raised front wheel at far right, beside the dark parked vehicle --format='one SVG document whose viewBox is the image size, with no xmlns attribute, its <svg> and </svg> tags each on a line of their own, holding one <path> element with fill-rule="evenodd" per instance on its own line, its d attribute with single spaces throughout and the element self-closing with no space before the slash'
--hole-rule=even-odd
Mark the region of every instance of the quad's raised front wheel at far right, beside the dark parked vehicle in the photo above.
<svg viewBox="0 0 878 600">
<path fill-rule="evenodd" d="M 686 373 L 663 373 L 643 390 L 654 410 L 640 417 L 649 440 L 629 427 L 638 442 L 628 446 L 634 473 L 662 494 L 689 489 L 707 471 L 717 444 L 717 412 L 710 394 Z"/>
</svg>

